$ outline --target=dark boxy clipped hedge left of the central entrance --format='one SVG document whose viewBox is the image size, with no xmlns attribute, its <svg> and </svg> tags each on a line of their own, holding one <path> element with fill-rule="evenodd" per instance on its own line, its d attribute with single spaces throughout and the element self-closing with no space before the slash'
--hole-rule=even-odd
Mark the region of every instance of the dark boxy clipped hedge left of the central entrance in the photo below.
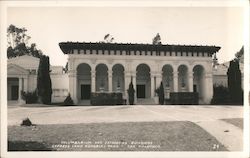
<svg viewBox="0 0 250 158">
<path fill-rule="evenodd" d="M 91 93 L 91 105 L 122 105 L 122 93 Z"/>
</svg>

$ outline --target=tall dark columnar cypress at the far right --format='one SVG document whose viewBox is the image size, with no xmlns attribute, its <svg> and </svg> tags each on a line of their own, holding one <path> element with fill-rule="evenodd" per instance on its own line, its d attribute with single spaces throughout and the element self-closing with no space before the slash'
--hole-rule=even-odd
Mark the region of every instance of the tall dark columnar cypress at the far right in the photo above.
<svg viewBox="0 0 250 158">
<path fill-rule="evenodd" d="M 243 104 L 243 91 L 241 88 L 241 71 L 239 68 L 239 60 L 230 61 L 227 77 L 230 103 Z"/>
</svg>

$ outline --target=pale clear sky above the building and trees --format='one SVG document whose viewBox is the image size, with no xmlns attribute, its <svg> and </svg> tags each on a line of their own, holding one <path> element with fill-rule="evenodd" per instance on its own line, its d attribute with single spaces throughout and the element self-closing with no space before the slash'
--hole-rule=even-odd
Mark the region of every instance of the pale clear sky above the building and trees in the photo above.
<svg viewBox="0 0 250 158">
<path fill-rule="evenodd" d="M 29 43 L 65 66 L 60 42 L 99 42 L 111 34 L 116 43 L 215 45 L 219 63 L 234 58 L 243 45 L 240 7 L 10 7 L 7 24 L 25 27 Z"/>
</svg>

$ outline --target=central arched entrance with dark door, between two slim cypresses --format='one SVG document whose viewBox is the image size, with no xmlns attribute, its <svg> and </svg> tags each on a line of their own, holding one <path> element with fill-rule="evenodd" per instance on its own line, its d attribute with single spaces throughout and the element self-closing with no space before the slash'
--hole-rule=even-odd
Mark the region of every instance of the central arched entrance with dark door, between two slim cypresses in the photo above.
<svg viewBox="0 0 250 158">
<path fill-rule="evenodd" d="M 140 64 L 136 68 L 136 96 L 137 98 L 150 98 L 150 92 L 150 68 L 146 64 Z"/>
</svg>

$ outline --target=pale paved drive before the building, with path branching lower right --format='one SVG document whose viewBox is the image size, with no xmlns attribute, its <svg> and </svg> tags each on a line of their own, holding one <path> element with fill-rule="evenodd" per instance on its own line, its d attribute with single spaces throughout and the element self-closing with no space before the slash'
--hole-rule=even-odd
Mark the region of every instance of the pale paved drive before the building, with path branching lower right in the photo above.
<svg viewBox="0 0 250 158">
<path fill-rule="evenodd" d="M 243 131 L 220 119 L 243 118 L 242 106 L 63 106 L 8 107 L 8 125 L 29 117 L 34 124 L 191 121 L 231 151 L 242 150 Z"/>
</svg>

